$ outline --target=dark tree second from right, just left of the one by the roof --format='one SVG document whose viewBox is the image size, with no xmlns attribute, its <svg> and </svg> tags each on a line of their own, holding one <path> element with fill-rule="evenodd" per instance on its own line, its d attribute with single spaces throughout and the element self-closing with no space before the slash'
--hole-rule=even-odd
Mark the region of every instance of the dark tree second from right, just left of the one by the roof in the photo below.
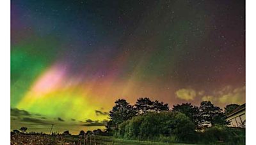
<svg viewBox="0 0 256 145">
<path fill-rule="evenodd" d="M 225 114 L 220 107 L 214 106 L 210 101 L 203 101 L 199 107 L 201 125 L 227 125 Z"/>
</svg>

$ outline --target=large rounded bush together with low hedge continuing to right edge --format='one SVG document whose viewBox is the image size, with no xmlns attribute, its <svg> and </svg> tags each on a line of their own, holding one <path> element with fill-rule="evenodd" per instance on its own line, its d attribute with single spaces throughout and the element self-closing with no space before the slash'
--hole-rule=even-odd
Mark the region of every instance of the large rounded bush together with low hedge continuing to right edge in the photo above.
<svg viewBox="0 0 256 145">
<path fill-rule="evenodd" d="M 214 126 L 195 132 L 195 125 L 179 112 L 146 113 L 118 125 L 116 137 L 138 141 L 199 144 L 245 144 L 245 128 Z"/>
</svg>

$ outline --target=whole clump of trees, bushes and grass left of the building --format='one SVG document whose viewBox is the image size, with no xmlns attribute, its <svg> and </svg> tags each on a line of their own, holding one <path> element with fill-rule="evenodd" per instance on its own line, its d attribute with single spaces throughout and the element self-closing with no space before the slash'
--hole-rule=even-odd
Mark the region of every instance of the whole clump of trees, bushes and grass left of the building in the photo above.
<svg viewBox="0 0 256 145">
<path fill-rule="evenodd" d="M 106 132 L 138 141 L 244 144 L 245 128 L 227 127 L 225 114 L 236 107 L 230 104 L 223 110 L 202 101 L 200 106 L 187 102 L 170 110 L 168 104 L 147 97 L 138 99 L 134 106 L 119 99 L 109 111 Z"/>
</svg>

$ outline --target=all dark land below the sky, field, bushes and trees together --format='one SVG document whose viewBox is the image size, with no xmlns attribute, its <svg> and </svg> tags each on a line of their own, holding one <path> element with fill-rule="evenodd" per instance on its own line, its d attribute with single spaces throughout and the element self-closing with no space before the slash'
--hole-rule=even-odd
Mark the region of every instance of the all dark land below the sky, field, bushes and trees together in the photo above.
<svg viewBox="0 0 256 145">
<path fill-rule="evenodd" d="M 125 99 L 115 101 L 109 111 L 106 130 L 81 130 L 72 135 L 68 130 L 51 135 L 26 132 L 27 127 L 11 132 L 11 144 L 41 142 L 42 144 L 101 144 L 102 142 L 180 142 L 196 144 L 245 144 L 245 128 L 227 127 L 226 114 L 237 104 L 229 104 L 224 110 L 210 101 L 193 106 L 186 102 L 173 105 L 149 98 L 139 98 L 134 105 Z M 90 120 L 89 120 L 90 121 Z M 25 133 L 26 132 L 26 133 Z M 116 140 L 121 139 L 121 140 Z"/>
</svg>

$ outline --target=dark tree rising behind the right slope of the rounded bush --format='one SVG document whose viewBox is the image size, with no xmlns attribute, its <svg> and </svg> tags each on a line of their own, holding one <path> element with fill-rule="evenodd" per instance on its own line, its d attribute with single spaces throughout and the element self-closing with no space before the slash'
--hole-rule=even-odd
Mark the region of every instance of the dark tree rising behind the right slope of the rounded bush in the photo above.
<svg viewBox="0 0 256 145">
<path fill-rule="evenodd" d="M 188 116 L 188 118 L 193 121 L 193 123 L 197 126 L 200 118 L 198 116 L 199 113 L 199 108 L 197 106 L 192 106 L 191 103 L 182 103 L 177 104 L 176 106 L 173 105 L 173 110 L 172 111 L 176 111 L 176 112 L 180 112 L 183 114 L 186 114 L 186 116 Z"/>
</svg>

